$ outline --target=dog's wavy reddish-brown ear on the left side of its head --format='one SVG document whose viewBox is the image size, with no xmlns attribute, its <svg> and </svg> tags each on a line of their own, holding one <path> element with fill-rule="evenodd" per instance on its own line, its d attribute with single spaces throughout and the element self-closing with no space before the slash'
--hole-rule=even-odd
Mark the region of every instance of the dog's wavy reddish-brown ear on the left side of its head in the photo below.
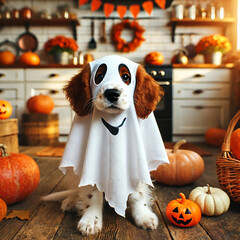
<svg viewBox="0 0 240 240">
<path fill-rule="evenodd" d="M 87 115 L 92 109 L 90 77 L 90 65 L 86 64 L 83 70 L 79 74 L 75 75 L 63 88 L 72 109 L 79 116 Z"/>
</svg>

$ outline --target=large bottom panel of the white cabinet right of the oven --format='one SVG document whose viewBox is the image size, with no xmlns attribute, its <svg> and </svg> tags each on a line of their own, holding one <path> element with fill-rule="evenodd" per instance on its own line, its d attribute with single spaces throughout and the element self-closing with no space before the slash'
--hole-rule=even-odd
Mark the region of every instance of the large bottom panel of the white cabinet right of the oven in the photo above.
<svg viewBox="0 0 240 240">
<path fill-rule="evenodd" d="M 204 134 L 210 127 L 226 128 L 229 101 L 174 100 L 173 134 Z"/>
</svg>

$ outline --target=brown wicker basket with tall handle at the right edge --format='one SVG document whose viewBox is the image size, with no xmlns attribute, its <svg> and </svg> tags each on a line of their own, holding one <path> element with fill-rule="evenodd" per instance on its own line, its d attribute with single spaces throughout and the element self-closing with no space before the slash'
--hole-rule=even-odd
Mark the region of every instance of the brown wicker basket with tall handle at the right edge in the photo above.
<svg viewBox="0 0 240 240">
<path fill-rule="evenodd" d="M 231 152 L 230 139 L 239 119 L 240 111 L 237 112 L 229 123 L 222 144 L 222 152 L 216 162 L 219 185 L 235 202 L 240 202 L 240 159 L 236 159 Z"/>
</svg>

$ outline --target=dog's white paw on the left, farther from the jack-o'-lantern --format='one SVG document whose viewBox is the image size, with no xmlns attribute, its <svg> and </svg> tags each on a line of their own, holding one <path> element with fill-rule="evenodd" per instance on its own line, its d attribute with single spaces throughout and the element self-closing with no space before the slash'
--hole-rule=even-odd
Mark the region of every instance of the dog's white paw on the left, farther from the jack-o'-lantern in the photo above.
<svg viewBox="0 0 240 240">
<path fill-rule="evenodd" d="M 102 230 L 102 216 L 84 214 L 77 226 L 82 235 L 93 235 Z"/>
</svg>

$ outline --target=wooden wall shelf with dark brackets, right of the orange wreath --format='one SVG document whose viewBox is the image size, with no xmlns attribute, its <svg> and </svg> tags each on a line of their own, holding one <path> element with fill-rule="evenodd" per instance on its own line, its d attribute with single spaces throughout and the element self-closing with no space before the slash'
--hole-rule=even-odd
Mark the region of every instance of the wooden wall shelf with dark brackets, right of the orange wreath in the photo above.
<svg viewBox="0 0 240 240">
<path fill-rule="evenodd" d="M 191 19 L 177 19 L 172 18 L 170 25 L 172 26 L 172 42 L 175 41 L 175 31 L 177 26 L 222 26 L 224 32 L 229 24 L 233 24 L 235 22 L 234 18 L 225 18 L 225 19 L 216 19 L 212 20 L 210 18 L 197 18 L 195 20 Z"/>
</svg>

